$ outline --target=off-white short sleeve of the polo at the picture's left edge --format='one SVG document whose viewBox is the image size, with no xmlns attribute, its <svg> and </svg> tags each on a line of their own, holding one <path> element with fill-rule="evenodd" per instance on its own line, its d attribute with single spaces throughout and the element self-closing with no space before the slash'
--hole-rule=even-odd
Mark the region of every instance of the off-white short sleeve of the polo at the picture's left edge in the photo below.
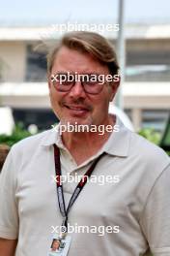
<svg viewBox="0 0 170 256">
<path fill-rule="evenodd" d="M 0 175 L 0 238 L 9 240 L 17 239 L 18 234 L 15 169 L 16 163 L 11 149 Z"/>
</svg>

